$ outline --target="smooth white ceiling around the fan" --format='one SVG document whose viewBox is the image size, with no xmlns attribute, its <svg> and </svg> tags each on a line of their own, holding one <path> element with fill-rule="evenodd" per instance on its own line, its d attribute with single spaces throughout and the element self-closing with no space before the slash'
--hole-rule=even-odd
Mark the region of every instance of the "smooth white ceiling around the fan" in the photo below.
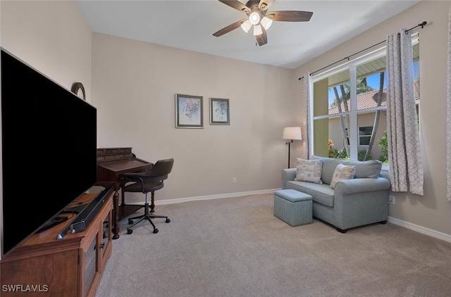
<svg viewBox="0 0 451 297">
<path fill-rule="evenodd" d="M 78 5 L 94 32 L 294 69 L 419 1 L 276 0 L 268 11 L 313 15 L 309 22 L 275 21 L 264 46 L 240 27 L 214 37 L 246 17 L 217 0 L 78 0 Z"/>
</svg>

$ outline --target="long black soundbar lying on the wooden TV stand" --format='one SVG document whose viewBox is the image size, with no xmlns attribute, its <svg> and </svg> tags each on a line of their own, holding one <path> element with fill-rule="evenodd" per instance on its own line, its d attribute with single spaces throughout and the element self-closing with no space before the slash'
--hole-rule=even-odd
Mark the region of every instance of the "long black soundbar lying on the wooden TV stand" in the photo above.
<svg viewBox="0 0 451 297">
<path fill-rule="evenodd" d="M 94 220 L 97 213 L 99 213 L 100 208 L 104 205 L 106 198 L 111 194 L 111 191 L 113 191 L 112 187 L 101 191 L 93 201 L 89 202 L 82 210 L 80 210 L 73 222 L 58 233 L 56 239 L 63 239 L 63 237 L 68 234 L 69 230 L 71 230 L 72 233 L 85 230 L 89 226 L 89 223 Z"/>
</svg>

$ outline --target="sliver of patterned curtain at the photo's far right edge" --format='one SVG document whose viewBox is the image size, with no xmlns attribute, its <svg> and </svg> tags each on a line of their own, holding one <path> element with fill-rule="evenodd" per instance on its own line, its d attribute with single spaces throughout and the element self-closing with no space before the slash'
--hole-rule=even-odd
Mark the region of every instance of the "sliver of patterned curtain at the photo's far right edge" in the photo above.
<svg viewBox="0 0 451 297">
<path fill-rule="evenodd" d="M 451 202 L 451 7 L 448 11 L 448 59 L 447 59 L 447 114 L 446 114 L 446 198 Z"/>
</svg>

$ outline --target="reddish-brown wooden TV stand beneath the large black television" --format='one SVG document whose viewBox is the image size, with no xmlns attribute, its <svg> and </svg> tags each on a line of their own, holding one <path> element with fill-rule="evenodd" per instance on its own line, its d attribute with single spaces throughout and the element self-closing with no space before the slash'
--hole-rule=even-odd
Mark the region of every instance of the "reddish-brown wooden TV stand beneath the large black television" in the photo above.
<svg viewBox="0 0 451 297">
<path fill-rule="evenodd" d="M 89 203 L 97 194 L 82 194 L 76 201 Z M 106 261 L 111 255 L 111 197 L 106 198 L 82 232 L 56 239 L 75 218 L 32 235 L 0 261 L 0 295 L 95 296 Z M 26 223 L 26 222 L 25 222 Z"/>
</svg>

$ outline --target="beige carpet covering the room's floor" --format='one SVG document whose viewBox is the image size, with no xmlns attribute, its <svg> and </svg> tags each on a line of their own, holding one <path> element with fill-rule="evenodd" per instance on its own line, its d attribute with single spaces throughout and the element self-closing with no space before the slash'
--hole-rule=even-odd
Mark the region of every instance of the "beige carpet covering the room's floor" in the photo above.
<svg viewBox="0 0 451 297">
<path fill-rule="evenodd" d="M 451 296 L 451 244 L 390 223 L 290 227 L 273 195 L 156 206 L 113 240 L 98 297 Z"/>
</svg>

